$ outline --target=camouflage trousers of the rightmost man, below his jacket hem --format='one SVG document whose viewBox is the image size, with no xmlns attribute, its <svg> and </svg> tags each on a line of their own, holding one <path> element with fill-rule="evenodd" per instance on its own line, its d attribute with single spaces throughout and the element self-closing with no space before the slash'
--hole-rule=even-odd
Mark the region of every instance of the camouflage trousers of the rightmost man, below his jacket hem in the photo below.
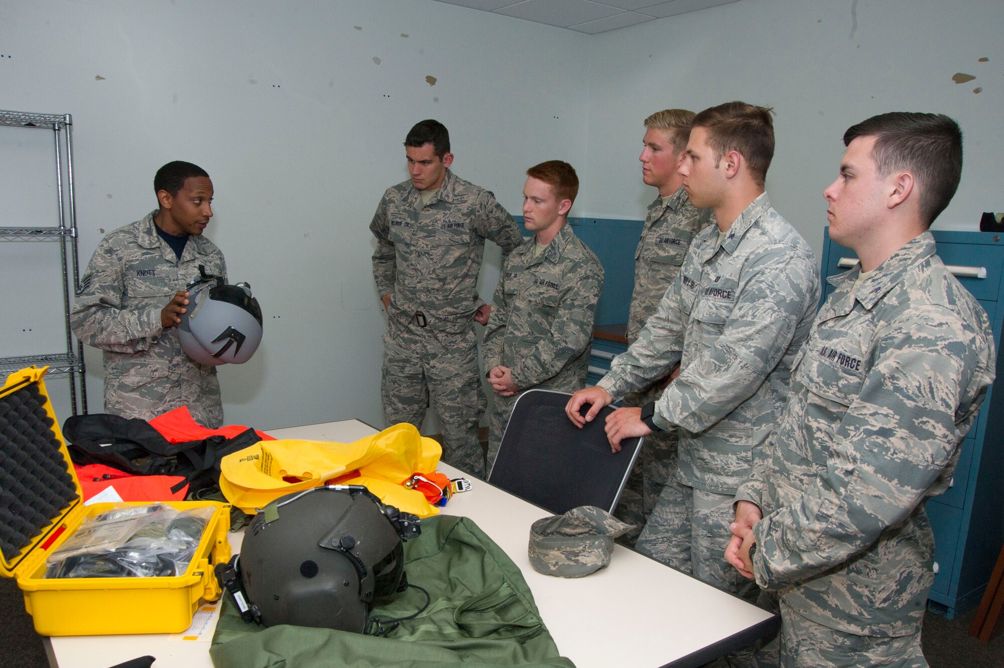
<svg viewBox="0 0 1004 668">
<path fill-rule="evenodd" d="M 920 632 L 898 638 L 844 633 L 802 617 L 784 599 L 778 602 L 764 594 L 775 611 L 780 609 L 781 630 L 757 650 L 757 668 L 928 668 Z"/>
</svg>

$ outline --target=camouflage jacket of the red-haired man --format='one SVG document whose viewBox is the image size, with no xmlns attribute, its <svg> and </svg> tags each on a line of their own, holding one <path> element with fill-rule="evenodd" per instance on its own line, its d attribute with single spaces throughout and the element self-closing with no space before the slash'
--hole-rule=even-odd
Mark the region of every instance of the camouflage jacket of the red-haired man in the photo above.
<svg viewBox="0 0 1004 668">
<path fill-rule="evenodd" d="M 485 330 L 485 368 L 512 369 L 520 390 L 562 391 L 585 383 L 603 268 L 570 225 L 533 260 L 527 239 L 505 261 Z"/>
</svg>

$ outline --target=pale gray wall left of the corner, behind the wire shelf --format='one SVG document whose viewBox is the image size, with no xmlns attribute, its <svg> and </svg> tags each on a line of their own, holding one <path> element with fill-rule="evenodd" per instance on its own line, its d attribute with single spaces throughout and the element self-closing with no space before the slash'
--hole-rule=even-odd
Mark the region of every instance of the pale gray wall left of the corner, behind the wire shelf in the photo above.
<svg viewBox="0 0 1004 668">
<path fill-rule="evenodd" d="M 104 233 L 154 209 L 161 164 L 187 159 L 210 173 L 206 234 L 265 313 L 252 361 L 220 371 L 228 421 L 380 424 L 385 317 L 367 226 L 384 190 L 408 178 L 408 128 L 445 122 L 454 171 L 519 213 L 528 165 L 583 162 L 587 39 L 428 0 L 2 2 L 0 52 L 13 57 L 0 62 L 0 108 L 72 113 L 84 264 Z M 0 130 L 9 225 L 8 202 L 54 199 L 41 186 L 47 144 L 29 179 L 26 151 L 6 143 L 48 137 Z M 34 254 L 33 277 L 57 271 L 57 259 L 42 260 L 51 244 L 17 247 Z M 497 248 L 488 257 L 490 299 Z M 58 346 L 60 297 L 43 287 L 7 311 L 0 355 L 33 348 L 20 345 L 27 328 L 55 332 Z M 100 354 L 86 359 L 98 410 Z M 56 398 L 63 384 L 49 382 Z"/>
</svg>

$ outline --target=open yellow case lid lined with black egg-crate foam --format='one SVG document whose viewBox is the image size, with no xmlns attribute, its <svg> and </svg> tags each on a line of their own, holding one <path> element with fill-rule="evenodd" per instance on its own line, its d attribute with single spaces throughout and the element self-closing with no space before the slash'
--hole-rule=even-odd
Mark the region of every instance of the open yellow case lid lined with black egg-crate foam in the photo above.
<svg viewBox="0 0 1004 668">
<path fill-rule="evenodd" d="M 29 574 L 70 514 L 83 513 L 80 483 L 42 381 L 48 368 L 16 371 L 0 388 L 0 575 L 7 578 Z"/>
</svg>

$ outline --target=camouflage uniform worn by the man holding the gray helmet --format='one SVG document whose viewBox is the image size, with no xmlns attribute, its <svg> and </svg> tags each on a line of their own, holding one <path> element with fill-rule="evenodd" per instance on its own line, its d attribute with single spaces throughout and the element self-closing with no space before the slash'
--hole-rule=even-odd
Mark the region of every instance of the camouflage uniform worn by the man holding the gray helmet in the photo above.
<svg viewBox="0 0 1004 668">
<path fill-rule="evenodd" d="M 187 405 L 197 422 L 223 424 L 216 367 L 182 350 L 177 327 L 161 325 L 161 310 L 189 281 L 206 272 L 224 279 L 223 254 L 203 236 L 190 236 L 181 260 L 157 234 L 151 212 L 109 233 L 97 245 L 80 281 L 70 324 L 104 353 L 104 410 L 151 419 Z"/>
</svg>

